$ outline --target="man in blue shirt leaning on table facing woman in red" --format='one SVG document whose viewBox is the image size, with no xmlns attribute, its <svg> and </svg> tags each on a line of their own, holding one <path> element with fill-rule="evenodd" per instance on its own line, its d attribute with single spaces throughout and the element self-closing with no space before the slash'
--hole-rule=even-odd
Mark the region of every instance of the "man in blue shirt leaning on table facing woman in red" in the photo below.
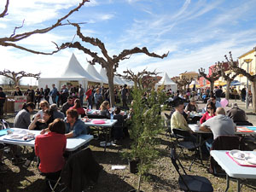
<svg viewBox="0 0 256 192">
<path fill-rule="evenodd" d="M 78 137 L 82 134 L 88 134 L 87 127 L 84 122 L 79 119 L 79 113 L 76 109 L 68 109 L 66 121 L 66 137 Z"/>
</svg>

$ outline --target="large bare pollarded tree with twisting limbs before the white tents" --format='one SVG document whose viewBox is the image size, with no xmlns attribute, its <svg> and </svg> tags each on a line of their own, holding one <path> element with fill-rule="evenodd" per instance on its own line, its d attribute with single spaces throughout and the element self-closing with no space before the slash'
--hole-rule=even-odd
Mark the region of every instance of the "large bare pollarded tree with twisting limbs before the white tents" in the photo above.
<svg viewBox="0 0 256 192">
<path fill-rule="evenodd" d="M 73 26 L 77 27 L 77 35 L 81 39 L 82 42 L 91 44 L 93 46 L 96 46 L 98 49 L 101 50 L 103 56 L 99 56 L 96 52 L 91 51 L 90 49 L 85 48 L 82 44 L 79 42 L 68 42 L 66 44 L 61 44 L 61 48 L 76 48 L 79 50 L 84 51 L 84 54 L 90 55 L 93 59 L 92 61 L 89 61 L 91 65 L 95 65 L 96 63 L 100 64 L 103 68 L 106 68 L 107 70 L 107 76 L 108 76 L 108 85 L 109 85 L 109 93 L 110 93 L 110 104 L 113 106 L 114 104 L 114 96 L 113 96 L 113 75 L 116 72 L 117 67 L 119 67 L 119 61 L 123 61 L 125 59 L 129 59 L 131 55 L 137 54 L 137 53 L 143 53 L 151 57 L 157 57 L 157 58 L 165 58 L 167 54 L 164 55 L 157 55 L 155 53 L 149 53 L 148 49 L 146 47 L 143 47 L 143 49 L 140 48 L 133 48 L 133 49 L 124 49 L 119 55 L 113 55 L 112 57 L 108 55 L 108 50 L 105 48 L 105 44 L 102 43 L 101 40 L 98 38 L 90 38 L 90 37 L 84 37 L 84 35 L 81 32 L 81 28 L 79 24 L 77 23 L 71 23 Z"/>
</svg>

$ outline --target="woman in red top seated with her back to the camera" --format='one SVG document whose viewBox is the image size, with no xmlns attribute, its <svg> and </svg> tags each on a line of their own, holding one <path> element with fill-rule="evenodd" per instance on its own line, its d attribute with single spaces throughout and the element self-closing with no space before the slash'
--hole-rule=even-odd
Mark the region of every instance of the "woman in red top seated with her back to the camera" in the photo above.
<svg viewBox="0 0 256 192">
<path fill-rule="evenodd" d="M 49 132 L 38 135 L 35 140 L 35 154 L 40 158 L 39 170 L 52 180 L 56 180 L 60 176 L 65 165 L 63 157 L 67 144 L 65 130 L 64 121 L 55 119 L 53 123 L 49 124 Z"/>
</svg>

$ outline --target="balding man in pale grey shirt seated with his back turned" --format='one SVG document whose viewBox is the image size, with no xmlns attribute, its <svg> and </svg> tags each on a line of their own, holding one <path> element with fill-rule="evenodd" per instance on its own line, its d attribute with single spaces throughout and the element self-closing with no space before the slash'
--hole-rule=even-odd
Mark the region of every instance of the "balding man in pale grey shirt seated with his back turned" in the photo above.
<svg viewBox="0 0 256 192">
<path fill-rule="evenodd" d="M 232 119 L 225 115 L 224 108 L 217 108 L 216 116 L 204 122 L 200 127 L 200 131 L 212 131 L 213 139 L 216 139 L 218 136 L 235 135 L 236 125 Z M 212 142 L 212 139 L 207 140 L 208 149 L 212 147 Z"/>
</svg>

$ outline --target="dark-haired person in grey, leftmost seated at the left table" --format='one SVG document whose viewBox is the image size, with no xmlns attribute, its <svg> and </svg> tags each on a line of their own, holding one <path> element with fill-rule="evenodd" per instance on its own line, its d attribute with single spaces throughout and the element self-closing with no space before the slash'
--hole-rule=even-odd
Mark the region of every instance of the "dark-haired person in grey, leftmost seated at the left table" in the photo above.
<svg viewBox="0 0 256 192">
<path fill-rule="evenodd" d="M 16 128 L 27 129 L 27 127 L 31 124 L 30 113 L 35 108 L 35 104 L 32 102 L 24 103 L 22 106 L 22 110 L 15 116 L 14 126 Z"/>
</svg>

